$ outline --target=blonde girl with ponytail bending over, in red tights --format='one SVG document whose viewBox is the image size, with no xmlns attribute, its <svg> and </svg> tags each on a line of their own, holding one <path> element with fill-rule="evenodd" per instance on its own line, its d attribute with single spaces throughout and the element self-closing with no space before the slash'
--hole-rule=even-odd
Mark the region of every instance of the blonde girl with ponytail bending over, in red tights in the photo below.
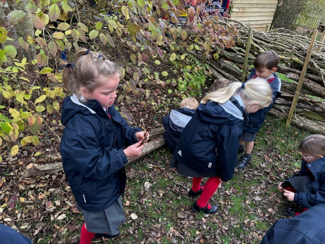
<svg viewBox="0 0 325 244">
<path fill-rule="evenodd" d="M 208 201 L 220 182 L 233 177 L 246 113 L 268 107 L 271 102 L 271 87 L 260 78 L 233 82 L 202 99 L 184 128 L 170 163 L 178 173 L 193 177 L 188 196 L 201 195 L 191 206 L 194 212 L 214 214 L 218 210 Z M 208 177 L 204 187 L 202 177 Z"/>
</svg>

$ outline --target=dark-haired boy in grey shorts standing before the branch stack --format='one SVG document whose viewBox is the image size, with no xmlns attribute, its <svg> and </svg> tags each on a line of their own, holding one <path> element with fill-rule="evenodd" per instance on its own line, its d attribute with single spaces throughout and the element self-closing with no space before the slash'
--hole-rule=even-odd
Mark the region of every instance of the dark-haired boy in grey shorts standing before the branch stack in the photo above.
<svg viewBox="0 0 325 244">
<path fill-rule="evenodd" d="M 243 134 L 239 141 L 238 154 L 243 153 L 244 143 L 246 142 L 245 154 L 240 158 L 237 167 L 240 169 L 245 168 L 250 164 L 251 153 L 254 146 L 256 133 L 261 129 L 267 112 L 273 107 L 276 98 L 280 97 L 281 80 L 275 73 L 276 67 L 279 64 L 279 57 L 274 51 L 265 51 L 257 55 L 254 60 L 254 69 L 250 73 L 248 80 L 255 79 L 256 77 L 266 79 L 273 93 L 272 103 L 270 106 L 265 107 L 256 113 L 249 114 L 249 121 L 244 125 Z"/>
</svg>

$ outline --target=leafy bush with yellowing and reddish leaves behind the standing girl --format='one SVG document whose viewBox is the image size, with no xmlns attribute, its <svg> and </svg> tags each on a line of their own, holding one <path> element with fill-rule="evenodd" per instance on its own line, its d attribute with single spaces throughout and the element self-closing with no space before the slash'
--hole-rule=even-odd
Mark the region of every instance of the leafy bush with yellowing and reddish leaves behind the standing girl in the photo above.
<svg viewBox="0 0 325 244">
<path fill-rule="evenodd" d="M 184 3 L 178 0 L 0 2 L 3 148 L 15 156 L 19 148 L 40 143 L 44 118 L 58 113 L 66 96 L 59 58 L 64 52 L 69 62 L 80 47 L 121 66 L 121 100 L 141 93 L 147 100 L 141 106 L 157 109 L 166 105 L 166 87 L 176 96 L 200 95 L 208 66 L 190 53 L 210 58 L 215 47 L 235 45 L 237 35 L 235 27 L 218 22 L 217 12 L 207 15 L 205 2 L 188 8 L 182 26 L 178 10 Z"/>
</svg>

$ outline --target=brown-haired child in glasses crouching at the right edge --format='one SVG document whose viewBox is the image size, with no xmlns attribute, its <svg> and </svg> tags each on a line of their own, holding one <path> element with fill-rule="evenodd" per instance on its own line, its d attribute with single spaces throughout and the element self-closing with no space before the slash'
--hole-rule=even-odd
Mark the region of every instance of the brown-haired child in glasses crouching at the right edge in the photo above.
<svg viewBox="0 0 325 244">
<path fill-rule="evenodd" d="M 299 149 L 303 155 L 301 170 L 278 185 L 279 191 L 284 192 L 283 196 L 302 207 L 301 210 L 286 208 L 286 214 L 293 217 L 325 203 L 325 136 L 307 136 Z"/>
</svg>

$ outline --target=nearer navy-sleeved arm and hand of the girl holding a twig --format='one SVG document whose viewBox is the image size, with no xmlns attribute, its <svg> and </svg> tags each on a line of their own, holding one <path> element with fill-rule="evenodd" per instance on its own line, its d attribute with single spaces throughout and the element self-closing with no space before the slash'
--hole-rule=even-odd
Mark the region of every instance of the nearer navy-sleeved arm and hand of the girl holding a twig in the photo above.
<svg viewBox="0 0 325 244">
<path fill-rule="evenodd" d="M 82 116 L 82 115 L 80 115 Z M 60 151 L 63 167 L 78 171 L 81 175 L 92 179 L 105 179 L 122 169 L 128 157 L 138 156 L 143 148 L 116 149 L 114 145 L 100 143 L 97 133 L 85 119 L 76 119 L 78 123 L 68 123 L 65 130 L 69 133 L 62 136 Z M 114 134 L 105 135 L 114 137 Z M 135 139 L 136 140 L 136 139 Z M 112 141 L 113 140 L 108 140 Z M 136 140 L 138 142 L 138 140 Z M 126 149 L 126 148 L 125 148 Z"/>
</svg>

